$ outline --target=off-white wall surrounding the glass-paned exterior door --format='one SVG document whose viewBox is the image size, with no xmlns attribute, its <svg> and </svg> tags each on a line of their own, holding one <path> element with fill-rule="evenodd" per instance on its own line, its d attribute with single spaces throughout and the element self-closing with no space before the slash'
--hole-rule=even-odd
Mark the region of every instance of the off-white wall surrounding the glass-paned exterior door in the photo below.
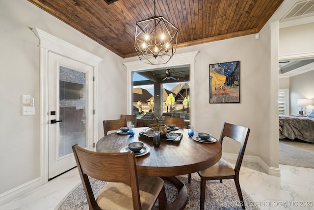
<svg viewBox="0 0 314 210">
<path fill-rule="evenodd" d="M 104 119 L 126 113 L 127 75 L 122 58 L 26 0 L 1 0 L 0 26 L 1 195 L 40 178 L 39 39 L 29 28 L 44 30 L 104 59 L 98 73 L 98 138 L 104 136 Z M 22 94 L 35 99 L 35 115 L 21 115 Z"/>
</svg>

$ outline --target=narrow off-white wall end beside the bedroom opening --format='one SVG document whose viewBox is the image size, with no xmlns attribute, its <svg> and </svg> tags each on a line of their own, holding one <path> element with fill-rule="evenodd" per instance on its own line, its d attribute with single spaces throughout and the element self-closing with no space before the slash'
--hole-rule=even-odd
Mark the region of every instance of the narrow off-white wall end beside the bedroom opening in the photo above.
<svg viewBox="0 0 314 210">
<path fill-rule="evenodd" d="M 269 166 L 279 167 L 278 144 L 278 21 L 266 24 L 260 33 L 257 63 L 257 103 L 259 157 Z"/>
</svg>

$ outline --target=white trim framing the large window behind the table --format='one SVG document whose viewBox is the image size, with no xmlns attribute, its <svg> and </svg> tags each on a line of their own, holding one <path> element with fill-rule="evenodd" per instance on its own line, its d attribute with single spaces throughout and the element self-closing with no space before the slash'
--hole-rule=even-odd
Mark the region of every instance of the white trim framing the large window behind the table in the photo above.
<svg viewBox="0 0 314 210">
<path fill-rule="evenodd" d="M 181 66 L 185 64 L 190 65 L 190 123 L 195 123 L 195 57 L 199 51 L 189 52 L 189 53 L 182 53 L 176 54 L 174 57 L 169 60 L 166 64 L 159 64 L 159 65 L 150 65 L 140 60 L 131 61 L 131 62 L 124 62 L 123 64 L 127 67 L 127 112 L 128 114 L 132 114 L 132 107 L 133 107 L 133 98 L 132 98 L 132 91 L 133 91 L 133 82 L 132 82 L 132 73 L 134 71 L 139 70 L 152 70 L 155 68 L 160 67 L 174 67 L 174 66 Z"/>
</svg>

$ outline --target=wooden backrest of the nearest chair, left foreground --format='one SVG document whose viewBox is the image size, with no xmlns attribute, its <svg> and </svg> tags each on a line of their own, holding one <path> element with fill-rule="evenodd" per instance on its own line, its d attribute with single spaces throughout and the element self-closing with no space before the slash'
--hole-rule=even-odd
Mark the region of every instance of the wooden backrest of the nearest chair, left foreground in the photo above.
<svg viewBox="0 0 314 210">
<path fill-rule="evenodd" d="M 131 186 L 133 207 L 141 209 L 134 152 L 103 153 L 72 147 L 90 209 L 98 209 L 88 177 Z M 92 208 L 91 208 L 92 206 Z"/>
</svg>

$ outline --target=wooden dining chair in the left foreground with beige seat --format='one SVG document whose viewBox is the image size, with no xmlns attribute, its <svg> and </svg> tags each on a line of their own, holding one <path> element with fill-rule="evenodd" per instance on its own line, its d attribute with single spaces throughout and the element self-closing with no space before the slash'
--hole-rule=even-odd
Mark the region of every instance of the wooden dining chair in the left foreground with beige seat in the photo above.
<svg viewBox="0 0 314 210">
<path fill-rule="evenodd" d="M 137 176 L 134 152 L 103 153 L 72 147 L 90 210 L 167 209 L 164 181 Z M 89 178 L 107 181 L 95 199 Z"/>
</svg>

